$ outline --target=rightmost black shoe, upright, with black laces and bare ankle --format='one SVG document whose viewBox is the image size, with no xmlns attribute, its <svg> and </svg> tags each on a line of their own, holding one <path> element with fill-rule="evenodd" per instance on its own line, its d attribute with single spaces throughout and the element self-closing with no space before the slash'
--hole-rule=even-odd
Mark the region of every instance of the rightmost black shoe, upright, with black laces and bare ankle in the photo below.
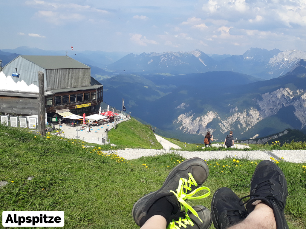
<svg viewBox="0 0 306 229">
<path fill-rule="evenodd" d="M 274 162 L 262 161 L 251 179 L 251 193 L 245 196 L 250 197 L 246 209 L 250 213 L 263 202 L 273 209 L 277 229 L 289 229 L 284 214 L 287 195 L 287 181 L 282 170 Z"/>
</svg>

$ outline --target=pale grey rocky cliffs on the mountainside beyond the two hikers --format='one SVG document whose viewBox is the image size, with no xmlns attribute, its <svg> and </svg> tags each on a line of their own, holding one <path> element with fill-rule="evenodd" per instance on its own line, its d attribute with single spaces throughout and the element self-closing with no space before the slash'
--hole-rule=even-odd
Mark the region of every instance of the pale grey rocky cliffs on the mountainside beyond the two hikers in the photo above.
<svg viewBox="0 0 306 229">
<path fill-rule="evenodd" d="M 173 123 L 179 124 L 178 129 L 189 134 L 205 135 L 207 131 L 210 131 L 215 136 L 216 134 L 222 136 L 233 130 L 236 132 L 235 136 L 243 138 L 248 133 L 248 130 L 252 129 L 261 120 L 277 115 L 278 111 L 283 107 L 293 106 L 295 109 L 293 113 L 300 121 L 299 128 L 303 129 L 306 126 L 305 89 L 279 88 L 254 97 L 250 105 L 247 109 L 241 110 L 241 108 L 237 107 L 237 104 L 223 117 L 212 110 L 200 116 L 197 116 L 192 111 L 184 112 L 174 119 Z M 184 107 L 186 106 L 188 104 L 184 104 Z M 241 111 L 239 112 L 239 110 Z M 256 133 L 253 138 L 258 136 L 262 136 L 262 134 Z"/>
</svg>

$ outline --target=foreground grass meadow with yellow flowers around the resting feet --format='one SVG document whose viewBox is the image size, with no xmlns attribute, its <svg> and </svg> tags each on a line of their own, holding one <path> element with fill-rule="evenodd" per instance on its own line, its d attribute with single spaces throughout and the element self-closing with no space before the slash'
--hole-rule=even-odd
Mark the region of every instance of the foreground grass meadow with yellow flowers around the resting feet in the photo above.
<svg viewBox="0 0 306 229">
<path fill-rule="evenodd" d="M 177 160 L 185 160 L 176 153 L 125 160 L 96 153 L 99 149 L 82 148 L 82 142 L 72 144 L 57 136 L 34 138 L 25 130 L 3 126 L 0 136 L 0 180 L 9 182 L 0 188 L 0 212 L 61 210 L 65 212 L 65 228 L 139 228 L 132 219 L 133 204 L 159 189 Z M 249 194 L 255 162 L 259 161 L 251 164 L 241 158 L 237 163 L 232 159 L 207 161 L 210 175 L 204 185 L 211 189 L 211 195 L 189 201 L 190 205 L 210 208 L 219 187 L 229 187 L 239 197 Z M 306 169 L 296 163 L 281 161 L 278 165 L 288 182 L 285 214 L 289 228 L 305 228 Z M 27 180 L 30 176 L 34 178 Z"/>
</svg>

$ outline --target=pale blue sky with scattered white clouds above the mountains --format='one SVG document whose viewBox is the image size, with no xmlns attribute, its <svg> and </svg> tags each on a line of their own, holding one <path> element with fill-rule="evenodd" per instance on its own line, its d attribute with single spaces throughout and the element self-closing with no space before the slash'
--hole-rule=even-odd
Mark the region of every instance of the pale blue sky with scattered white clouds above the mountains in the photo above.
<svg viewBox="0 0 306 229">
<path fill-rule="evenodd" d="M 305 0 L 0 0 L 0 49 L 306 50 Z"/>
</svg>

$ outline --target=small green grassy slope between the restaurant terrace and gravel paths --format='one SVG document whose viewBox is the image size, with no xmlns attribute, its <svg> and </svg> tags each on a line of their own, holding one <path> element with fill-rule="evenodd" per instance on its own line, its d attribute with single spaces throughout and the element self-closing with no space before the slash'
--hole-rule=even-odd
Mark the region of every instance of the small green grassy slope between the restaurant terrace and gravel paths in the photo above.
<svg viewBox="0 0 306 229">
<path fill-rule="evenodd" d="M 110 143 L 122 147 L 150 149 L 151 146 L 152 149 L 162 149 L 152 130 L 135 118 L 119 123 L 116 129 L 108 132 L 108 137 Z"/>
</svg>

